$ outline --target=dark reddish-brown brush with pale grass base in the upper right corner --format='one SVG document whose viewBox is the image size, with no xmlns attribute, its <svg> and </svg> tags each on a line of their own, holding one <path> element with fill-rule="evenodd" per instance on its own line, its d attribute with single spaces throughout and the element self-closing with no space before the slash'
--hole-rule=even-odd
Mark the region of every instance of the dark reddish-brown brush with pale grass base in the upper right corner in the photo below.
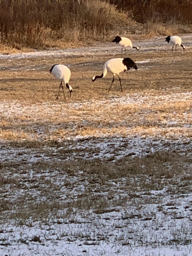
<svg viewBox="0 0 192 256">
<path fill-rule="evenodd" d="M 189 0 L 110 0 L 118 8 L 131 10 L 142 34 L 173 35 L 191 32 L 192 1 Z M 132 30 L 134 33 L 135 31 Z"/>
</svg>

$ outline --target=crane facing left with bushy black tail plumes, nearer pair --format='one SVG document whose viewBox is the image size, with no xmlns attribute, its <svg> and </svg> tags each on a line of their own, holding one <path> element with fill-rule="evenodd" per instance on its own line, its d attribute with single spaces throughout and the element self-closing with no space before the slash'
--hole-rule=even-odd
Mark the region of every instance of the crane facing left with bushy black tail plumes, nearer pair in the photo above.
<svg viewBox="0 0 192 256">
<path fill-rule="evenodd" d="M 115 75 L 117 74 L 118 78 L 119 78 L 119 83 L 121 86 L 121 78 L 119 77 L 119 73 L 123 72 L 123 71 L 127 71 L 130 70 L 130 68 L 134 68 L 135 70 L 137 70 L 137 66 L 135 64 L 134 61 L 132 61 L 132 59 L 130 58 L 115 58 L 115 59 L 110 59 L 108 61 L 105 62 L 104 66 L 103 66 L 103 72 L 100 76 L 96 75 L 92 77 L 92 82 L 95 82 L 95 80 L 97 78 L 102 78 L 105 77 L 107 72 L 111 72 L 113 73 L 113 80 L 111 82 L 111 85 L 109 87 L 108 92 L 111 89 L 111 86 L 115 80 Z M 121 86 L 121 92 L 123 92 L 122 90 L 122 86 Z"/>
</svg>

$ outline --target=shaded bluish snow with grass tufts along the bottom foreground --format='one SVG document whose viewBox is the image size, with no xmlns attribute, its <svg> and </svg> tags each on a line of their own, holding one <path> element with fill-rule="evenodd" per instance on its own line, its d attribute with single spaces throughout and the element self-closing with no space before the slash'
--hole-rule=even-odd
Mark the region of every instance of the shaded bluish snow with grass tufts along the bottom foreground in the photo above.
<svg viewBox="0 0 192 256">
<path fill-rule="evenodd" d="M 166 189 L 150 194 L 153 198 L 162 197 Z M 192 255 L 189 200 L 192 195 L 164 196 L 165 203 L 159 208 L 158 203 L 152 203 L 142 205 L 139 211 L 130 205 L 103 214 L 72 213 L 68 219 L 52 219 L 45 224 L 37 221 L 33 223 L 35 227 L 4 224 L 0 239 L 9 241 L 9 245 L 1 245 L 0 252 L 15 256 L 189 256 Z"/>
</svg>

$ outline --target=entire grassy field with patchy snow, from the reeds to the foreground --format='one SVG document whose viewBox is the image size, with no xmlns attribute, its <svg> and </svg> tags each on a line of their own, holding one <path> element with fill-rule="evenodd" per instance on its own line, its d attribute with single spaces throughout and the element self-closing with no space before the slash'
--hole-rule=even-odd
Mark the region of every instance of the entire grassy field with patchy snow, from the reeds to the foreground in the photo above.
<svg viewBox="0 0 192 256">
<path fill-rule="evenodd" d="M 192 255 L 192 35 L 0 55 L 0 254 Z M 48 73 L 71 69 L 72 98 Z M 91 88 L 92 87 L 92 88 Z"/>
</svg>

